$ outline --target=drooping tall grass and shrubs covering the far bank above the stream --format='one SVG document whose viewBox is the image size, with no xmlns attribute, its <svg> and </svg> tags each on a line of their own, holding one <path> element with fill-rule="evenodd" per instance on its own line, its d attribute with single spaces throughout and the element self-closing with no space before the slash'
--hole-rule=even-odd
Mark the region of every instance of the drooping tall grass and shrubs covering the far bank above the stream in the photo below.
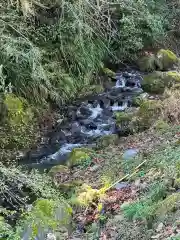
<svg viewBox="0 0 180 240">
<path fill-rule="evenodd" d="M 6 84 L 31 101 L 69 100 L 94 82 L 104 60 L 132 59 L 164 36 L 167 9 L 164 0 L 3 0 Z"/>
</svg>

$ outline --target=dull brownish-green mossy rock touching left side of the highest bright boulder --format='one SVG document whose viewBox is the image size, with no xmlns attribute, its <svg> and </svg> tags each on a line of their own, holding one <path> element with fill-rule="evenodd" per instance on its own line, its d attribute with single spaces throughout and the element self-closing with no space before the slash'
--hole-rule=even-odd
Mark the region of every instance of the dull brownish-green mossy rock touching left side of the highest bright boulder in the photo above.
<svg viewBox="0 0 180 240">
<path fill-rule="evenodd" d="M 143 72 L 152 72 L 156 69 L 156 56 L 151 54 L 138 60 L 139 69 Z"/>
</svg>

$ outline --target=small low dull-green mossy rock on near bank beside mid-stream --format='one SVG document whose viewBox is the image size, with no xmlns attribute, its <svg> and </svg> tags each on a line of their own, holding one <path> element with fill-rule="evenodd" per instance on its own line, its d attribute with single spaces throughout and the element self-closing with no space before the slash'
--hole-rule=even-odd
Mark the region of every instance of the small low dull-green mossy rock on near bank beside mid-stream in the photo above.
<svg viewBox="0 0 180 240">
<path fill-rule="evenodd" d="M 103 136 L 97 140 L 96 148 L 99 149 L 99 148 L 108 147 L 109 145 L 112 145 L 112 144 L 117 144 L 118 140 L 119 140 L 119 137 L 116 134 Z"/>
</svg>

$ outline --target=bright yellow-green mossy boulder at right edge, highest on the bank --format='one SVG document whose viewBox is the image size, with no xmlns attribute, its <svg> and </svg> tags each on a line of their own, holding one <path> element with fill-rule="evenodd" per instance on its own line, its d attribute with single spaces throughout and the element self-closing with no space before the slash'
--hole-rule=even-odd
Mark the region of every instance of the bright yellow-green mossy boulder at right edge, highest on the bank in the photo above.
<svg viewBox="0 0 180 240">
<path fill-rule="evenodd" d="M 159 70 L 168 70 L 178 63 L 178 57 L 170 50 L 161 49 L 157 52 Z"/>
</svg>

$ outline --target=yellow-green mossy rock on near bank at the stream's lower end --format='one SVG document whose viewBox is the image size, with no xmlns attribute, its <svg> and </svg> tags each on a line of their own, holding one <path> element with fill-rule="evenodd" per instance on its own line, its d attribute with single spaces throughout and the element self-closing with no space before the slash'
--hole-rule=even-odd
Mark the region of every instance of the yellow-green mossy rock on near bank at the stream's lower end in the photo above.
<svg viewBox="0 0 180 240">
<path fill-rule="evenodd" d="M 73 167 L 77 165 L 81 165 L 87 160 L 89 160 L 90 154 L 88 153 L 88 149 L 81 149 L 81 148 L 75 148 L 70 153 L 70 156 L 67 161 L 68 167 Z"/>
</svg>

